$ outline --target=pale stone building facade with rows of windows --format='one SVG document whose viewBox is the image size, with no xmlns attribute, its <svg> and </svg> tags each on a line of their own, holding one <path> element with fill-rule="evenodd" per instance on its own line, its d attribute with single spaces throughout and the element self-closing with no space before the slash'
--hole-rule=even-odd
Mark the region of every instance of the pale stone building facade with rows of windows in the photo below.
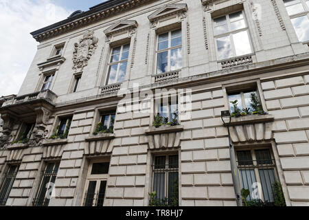
<svg viewBox="0 0 309 220">
<path fill-rule="evenodd" d="M 306 0 L 113 0 L 32 32 L 19 94 L 0 100 L 1 205 L 236 206 L 221 111 L 238 100 L 240 188 L 273 202 L 278 181 L 287 206 L 308 206 L 308 13 Z M 170 123 L 153 126 L 155 109 Z"/>
</svg>

